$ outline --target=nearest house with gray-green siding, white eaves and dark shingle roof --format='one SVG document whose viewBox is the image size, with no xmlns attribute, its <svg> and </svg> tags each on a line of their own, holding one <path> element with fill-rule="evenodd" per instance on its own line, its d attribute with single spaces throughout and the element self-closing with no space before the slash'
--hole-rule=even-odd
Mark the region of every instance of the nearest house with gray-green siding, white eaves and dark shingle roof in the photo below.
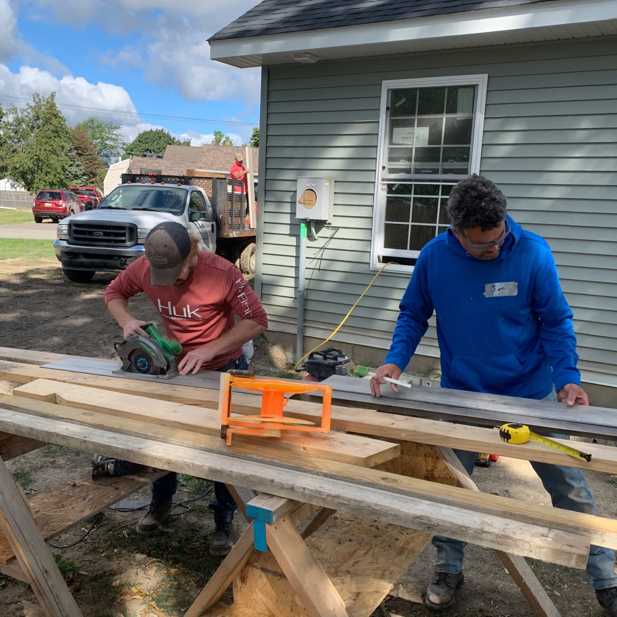
<svg viewBox="0 0 617 617">
<path fill-rule="evenodd" d="M 339 228 L 307 249 L 305 349 L 395 262 L 334 339 L 376 364 L 450 188 L 476 172 L 552 247 L 584 380 L 617 385 L 617 2 L 266 0 L 210 55 L 262 67 L 255 287 L 271 339 L 291 349 L 296 333 L 297 176 L 335 179 Z M 438 358 L 433 318 L 414 362 Z"/>
</svg>

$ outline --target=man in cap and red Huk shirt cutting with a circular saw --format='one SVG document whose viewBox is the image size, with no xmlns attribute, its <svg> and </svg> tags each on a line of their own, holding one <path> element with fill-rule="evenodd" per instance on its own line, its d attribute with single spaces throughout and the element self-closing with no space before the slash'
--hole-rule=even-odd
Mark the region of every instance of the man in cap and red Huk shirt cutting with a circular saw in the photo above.
<svg viewBox="0 0 617 617">
<path fill-rule="evenodd" d="M 178 362 L 181 375 L 201 369 L 246 369 L 242 346 L 262 334 L 268 318 L 257 294 L 233 263 L 213 253 L 199 251 L 180 223 L 165 222 L 148 234 L 145 257 L 131 263 L 105 291 L 107 309 L 123 329 L 124 337 L 148 336 L 146 321 L 133 317 L 128 299 L 146 292 L 170 339 L 182 345 Z M 234 313 L 240 317 L 236 323 Z M 152 502 L 137 526 L 143 535 L 154 533 L 172 510 L 177 479 L 170 472 L 152 483 Z M 212 555 L 226 555 L 235 542 L 233 513 L 236 503 L 225 484 L 214 483 L 215 534 Z"/>
</svg>

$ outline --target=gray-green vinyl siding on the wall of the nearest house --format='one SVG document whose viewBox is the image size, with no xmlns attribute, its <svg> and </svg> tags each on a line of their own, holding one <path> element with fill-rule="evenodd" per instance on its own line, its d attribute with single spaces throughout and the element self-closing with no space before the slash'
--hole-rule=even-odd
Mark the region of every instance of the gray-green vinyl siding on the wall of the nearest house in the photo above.
<svg viewBox="0 0 617 617">
<path fill-rule="evenodd" d="M 268 67 L 260 285 L 270 320 L 296 320 L 296 177 L 336 179 L 333 225 L 340 229 L 321 259 L 331 232 L 309 242 L 305 313 L 307 326 L 332 329 L 375 275 L 369 263 L 381 82 L 487 73 L 481 173 L 502 188 L 515 220 L 552 247 L 581 365 L 614 371 L 615 67 L 614 37 Z M 379 276 L 342 331 L 387 347 L 407 282 L 408 275 Z M 434 326 L 433 318 L 423 340 L 429 346 L 437 344 Z"/>
</svg>

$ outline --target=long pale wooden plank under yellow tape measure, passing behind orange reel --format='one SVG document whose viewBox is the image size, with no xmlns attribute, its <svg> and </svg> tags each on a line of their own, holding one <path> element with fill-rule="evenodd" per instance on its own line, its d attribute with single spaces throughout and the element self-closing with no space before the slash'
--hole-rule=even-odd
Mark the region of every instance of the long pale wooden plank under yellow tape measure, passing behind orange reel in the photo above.
<svg viewBox="0 0 617 617">
<path fill-rule="evenodd" d="M 173 384 L 160 381 L 157 383 L 146 383 L 128 381 L 122 378 L 83 375 L 81 373 L 56 371 L 31 365 L 10 366 L 13 368 L 9 369 L 0 362 L 0 377 L 2 377 L 2 370 L 4 370 L 6 378 L 10 376 L 17 381 L 23 380 L 23 383 L 28 383 L 38 378 L 48 378 L 64 383 L 98 387 L 117 392 L 126 392 L 126 394 L 139 394 L 144 397 L 168 400 L 186 405 L 199 405 L 206 408 L 218 407 L 218 390 L 174 386 Z M 253 414 L 255 409 L 259 407 L 258 400 L 259 397 L 238 392 L 234 394 L 234 412 Z M 371 399 L 373 407 L 382 406 L 381 402 L 378 401 L 379 399 Z M 437 407 L 431 408 L 437 409 Z M 534 442 L 520 445 L 506 444 L 499 439 L 496 431 L 489 429 L 439 422 L 428 420 L 427 418 L 410 418 L 410 416 L 400 415 L 405 409 L 395 407 L 388 407 L 388 409 L 392 413 L 386 416 L 383 413 L 368 409 L 333 405 L 331 425 L 333 429 L 350 431 L 352 433 L 404 439 L 405 441 L 429 445 L 444 445 L 446 447 L 470 450 L 471 452 L 490 451 L 511 458 L 552 463 L 553 465 L 579 466 L 587 470 L 617 473 L 617 451 L 611 447 L 586 444 L 586 450 L 592 454 L 592 460 L 590 463 L 579 462 L 567 454 L 546 448 Z M 313 403 L 294 399 L 289 400 L 285 407 L 286 414 L 308 420 L 315 420 L 320 415 L 320 412 L 317 410 L 318 407 Z M 416 411 L 418 410 L 413 410 L 413 413 Z M 398 413 L 395 414 L 394 412 Z M 423 412 L 420 410 L 418 413 Z M 434 415 L 439 415 L 439 413 L 441 412 L 436 412 Z M 445 416 L 447 416 L 447 412 Z M 499 424 L 500 421 L 496 420 L 494 423 Z M 554 424 L 559 425 L 555 426 L 555 430 L 565 431 L 566 433 L 568 432 L 566 429 L 571 429 L 572 427 L 571 423 L 567 423 L 567 426 L 559 422 Z M 572 431 L 572 434 L 576 434 L 576 431 Z"/>
</svg>

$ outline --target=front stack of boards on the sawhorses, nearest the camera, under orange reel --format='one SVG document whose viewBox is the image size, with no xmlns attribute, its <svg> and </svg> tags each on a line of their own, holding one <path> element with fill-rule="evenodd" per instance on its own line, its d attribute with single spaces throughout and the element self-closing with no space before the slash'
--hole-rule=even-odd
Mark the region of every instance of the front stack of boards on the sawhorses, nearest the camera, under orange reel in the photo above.
<svg viewBox="0 0 617 617">
<path fill-rule="evenodd" d="M 226 447 L 216 410 L 51 379 L 2 395 L 0 430 L 576 568 L 590 543 L 617 548 L 615 521 L 371 469 L 399 444 L 365 436 L 289 433 Z"/>
</svg>

